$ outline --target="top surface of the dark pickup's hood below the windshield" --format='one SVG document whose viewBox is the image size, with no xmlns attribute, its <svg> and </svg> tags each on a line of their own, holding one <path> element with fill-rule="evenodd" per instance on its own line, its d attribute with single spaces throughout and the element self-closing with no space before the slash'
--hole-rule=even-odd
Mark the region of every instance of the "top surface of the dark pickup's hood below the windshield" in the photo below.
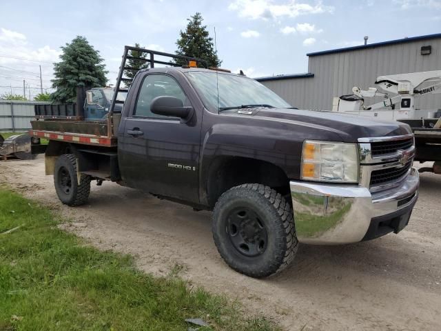
<svg viewBox="0 0 441 331">
<path fill-rule="evenodd" d="M 342 141 L 356 142 L 362 137 L 390 137 L 412 133 L 411 128 L 397 121 L 383 121 L 359 115 L 341 114 L 337 112 L 322 112 L 314 110 L 297 110 L 284 108 L 265 108 L 250 110 L 256 119 L 283 121 L 293 125 L 312 124 L 337 133 Z M 236 110 L 240 114 L 240 110 Z M 243 112 L 243 110 L 242 110 Z"/>
</svg>

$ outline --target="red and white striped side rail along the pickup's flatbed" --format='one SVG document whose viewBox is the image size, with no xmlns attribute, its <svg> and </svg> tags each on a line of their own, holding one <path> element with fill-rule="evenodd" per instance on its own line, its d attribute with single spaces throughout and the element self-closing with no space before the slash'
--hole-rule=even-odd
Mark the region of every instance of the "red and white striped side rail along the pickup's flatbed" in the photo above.
<svg viewBox="0 0 441 331">
<path fill-rule="evenodd" d="M 50 140 L 65 141 L 70 143 L 81 143 L 90 146 L 115 147 L 115 137 L 96 136 L 94 134 L 78 134 L 70 132 L 54 132 L 45 130 L 29 130 L 29 134 L 34 137 Z"/>
</svg>

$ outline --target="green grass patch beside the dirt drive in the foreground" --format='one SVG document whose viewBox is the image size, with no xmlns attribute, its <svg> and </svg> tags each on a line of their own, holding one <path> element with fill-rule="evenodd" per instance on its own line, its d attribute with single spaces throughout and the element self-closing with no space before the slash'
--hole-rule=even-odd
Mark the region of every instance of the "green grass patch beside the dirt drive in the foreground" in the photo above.
<svg viewBox="0 0 441 331">
<path fill-rule="evenodd" d="M 208 321 L 201 331 L 278 330 L 244 317 L 235 301 L 190 289 L 179 266 L 155 278 L 132 257 L 59 230 L 60 221 L 0 188 L 0 330 L 187 330 L 186 318 Z"/>
</svg>

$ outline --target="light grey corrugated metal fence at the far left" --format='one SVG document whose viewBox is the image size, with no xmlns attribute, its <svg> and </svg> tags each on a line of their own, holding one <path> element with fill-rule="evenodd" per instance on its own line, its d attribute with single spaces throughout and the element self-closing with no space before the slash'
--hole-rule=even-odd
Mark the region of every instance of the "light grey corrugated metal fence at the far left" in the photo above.
<svg viewBox="0 0 441 331">
<path fill-rule="evenodd" d="M 34 105 L 49 104 L 43 101 L 0 100 L 0 132 L 23 132 L 30 128 L 34 118 Z"/>
</svg>

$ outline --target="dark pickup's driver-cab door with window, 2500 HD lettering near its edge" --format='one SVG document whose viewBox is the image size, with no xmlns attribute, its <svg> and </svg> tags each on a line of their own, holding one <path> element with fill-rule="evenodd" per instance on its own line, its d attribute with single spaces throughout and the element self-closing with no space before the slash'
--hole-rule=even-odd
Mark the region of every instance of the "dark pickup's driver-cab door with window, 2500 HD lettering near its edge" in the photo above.
<svg viewBox="0 0 441 331">
<path fill-rule="evenodd" d="M 152 100 L 161 96 L 195 106 L 178 81 L 167 74 L 147 74 L 136 85 L 138 95 L 133 96 L 120 126 L 123 132 L 119 132 L 123 180 L 147 192 L 198 203 L 201 111 L 195 108 L 189 123 L 150 111 Z"/>
</svg>

